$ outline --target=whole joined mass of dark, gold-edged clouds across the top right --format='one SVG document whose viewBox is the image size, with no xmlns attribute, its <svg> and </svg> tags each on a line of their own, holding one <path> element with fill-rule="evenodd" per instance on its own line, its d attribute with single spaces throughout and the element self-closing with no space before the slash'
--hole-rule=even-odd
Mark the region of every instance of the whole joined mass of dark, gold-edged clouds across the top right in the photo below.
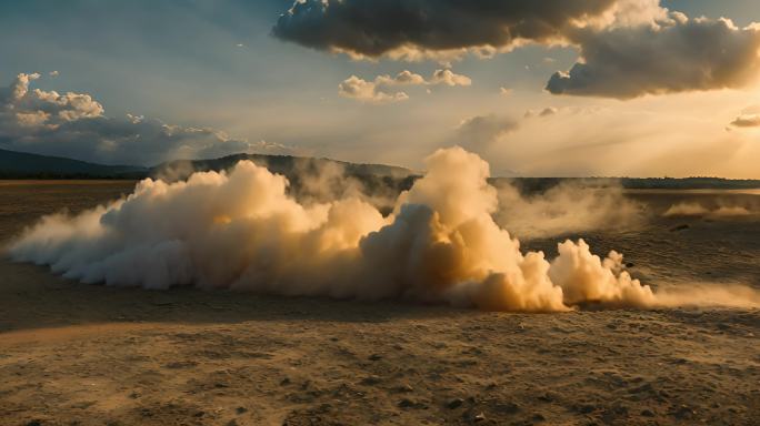
<svg viewBox="0 0 760 426">
<path fill-rule="evenodd" d="M 553 94 L 631 99 L 740 88 L 760 71 L 760 24 L 689 19 L 660 0 L 298 0 L 273 34 L 358 59 L 450 61 L 527 43 L 577 47 L 578 62 L 546 85 Z"/>
</svg>

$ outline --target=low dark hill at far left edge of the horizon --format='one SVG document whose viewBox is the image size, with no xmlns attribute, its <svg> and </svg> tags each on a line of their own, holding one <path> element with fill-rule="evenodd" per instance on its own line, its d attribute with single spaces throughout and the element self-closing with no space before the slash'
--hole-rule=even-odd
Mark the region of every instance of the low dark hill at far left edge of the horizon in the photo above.
<svg viewBox="0 0 760 426">
<path fill-rule="evenodd" d="M 0 150 L 0 179 L 140 179 L 148 169 Z"/>
</svg>

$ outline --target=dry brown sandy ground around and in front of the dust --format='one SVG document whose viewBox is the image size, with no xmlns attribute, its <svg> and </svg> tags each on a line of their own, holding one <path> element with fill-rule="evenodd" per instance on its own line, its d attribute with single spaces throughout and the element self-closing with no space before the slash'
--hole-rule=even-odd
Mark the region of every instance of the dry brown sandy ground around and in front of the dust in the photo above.
<svg viewBox="0 0 760 426">
<path fill-rule="evenodd" d="M 0 240 L 130 186 L 0 185 Z M 752 219 L 586 236 L 647 281 L 760 287 Z M 757 425 L 759 336 L 758 311 L 519 315 L 149 292 L 3 260 L 0 425 Z"/>
</svg>

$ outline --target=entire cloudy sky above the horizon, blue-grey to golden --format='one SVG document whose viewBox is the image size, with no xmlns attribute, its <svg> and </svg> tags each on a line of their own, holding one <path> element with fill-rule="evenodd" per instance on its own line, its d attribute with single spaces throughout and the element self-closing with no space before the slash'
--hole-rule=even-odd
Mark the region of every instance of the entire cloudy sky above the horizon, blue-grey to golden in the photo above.
<svg viewBox="0 0 760 426">
<path fill-rule="evenodd" d="M 726 19 L 722 19 L 726 18 Z M 0 148 L 760 179 L 756 0 L 0 2 Z"/>
</svg>

